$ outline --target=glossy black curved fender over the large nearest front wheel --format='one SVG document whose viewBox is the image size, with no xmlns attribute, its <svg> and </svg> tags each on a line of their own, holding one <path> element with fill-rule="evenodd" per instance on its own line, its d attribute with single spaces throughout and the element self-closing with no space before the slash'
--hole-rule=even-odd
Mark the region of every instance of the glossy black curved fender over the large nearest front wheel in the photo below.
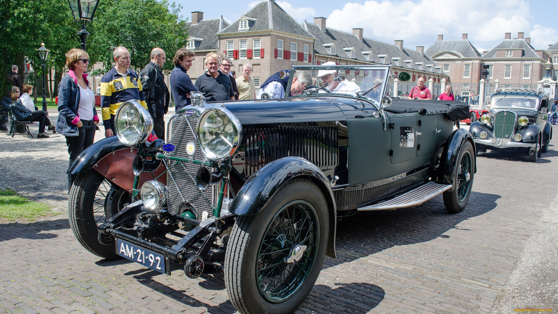
<svg viewBox="0 0 558 314">
<path fill-rule="evenodd" d="M 240 188 L 230 206 L 235 215 L 254 215 L 266 207 L 267 202 L 289 180 L 306 178 L 314 182 L 328 202 L 330 234 L 326 255 L 335 257 L 336 208 L 329 181 L 320 168 L 300 157 L 285 157 L 263 166 Z"/>
</svg>

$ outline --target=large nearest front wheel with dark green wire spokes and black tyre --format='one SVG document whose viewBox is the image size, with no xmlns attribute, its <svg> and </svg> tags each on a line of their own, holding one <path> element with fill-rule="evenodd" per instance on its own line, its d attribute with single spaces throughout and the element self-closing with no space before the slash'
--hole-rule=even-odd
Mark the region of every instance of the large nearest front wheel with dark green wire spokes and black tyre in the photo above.
<svg viewBox="0 0 558 314">
<path fill-rule="evenodd" d="M 240 313 L 296 311 L 324 263 L 329 212 L 310 180 L 287 183 L 256 215 L 239 216 L 225 256 L 225 284 Z"/>
</svg>

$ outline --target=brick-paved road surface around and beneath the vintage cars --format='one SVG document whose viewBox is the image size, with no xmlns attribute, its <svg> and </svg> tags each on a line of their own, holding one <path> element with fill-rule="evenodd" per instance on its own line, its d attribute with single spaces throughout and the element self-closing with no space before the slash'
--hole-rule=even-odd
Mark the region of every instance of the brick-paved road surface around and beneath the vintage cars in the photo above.
<svg viewBox="0 0 558 314">
<path fill-rule="evenodd" d="M 11 140 L 6 138 L 3 141 Z M 338 256 L 326 259 L 297 313 L 513 311 L 507 300 L 521 283 L 509 278 L 521 282 L 522 272 L 532 269 L 521 268 L 522 260 L 542 254 L 531 249 L 542 239 L 530 239 L 532 230 L 541 230 L 545 221 L 554 222 L 547 220 L 549 216 L 556 217 L 552 202 L 558 146 L 552 145 L 558 140 L 551 141 L 549 152 L 537 163 L 529 163 L 526 156 L 479 154 L 473 192 L 461 213 L 447 213 L 441 197 L 436 197 L 416 208 L 363 212 L 340 221 Z M 35 191 L 35 182 L 13 170 L 1 184 Z M 35 198 L 65 207 L 64 199 L 56 198 L 61 195 L 41 193 Z M 528 254 L 522 254 L 524 249 Z M 546 288 L 541 296 L 556 293 L 555 286 Z M 552 307 L 556 298 L 537 302 L 525 306 Z M 127 260 L 99 259 L 75 240 L 67 217 L 58 215 L 31 223 L 0 223 L 0 313 L 4 312 L 235 310 L 222 275 L 189 279 L 176 264 L 168 276 Z"/>
</svg>

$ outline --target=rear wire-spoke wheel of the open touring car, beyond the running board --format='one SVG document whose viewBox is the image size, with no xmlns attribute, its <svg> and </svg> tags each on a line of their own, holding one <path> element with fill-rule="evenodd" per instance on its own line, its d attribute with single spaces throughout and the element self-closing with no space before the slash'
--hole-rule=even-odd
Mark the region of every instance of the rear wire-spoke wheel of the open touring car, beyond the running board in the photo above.
<svg viewBox="0 0 558 314">
<path fill-rule="evenodd" d="M 464 210 L 469 202 L 473 177 L 475 175 L 475 159 L 473 145 L 465 141 L 459 150 L 458 158 L 454 166 L 454 188 L 444 192 L 444 205 L 449 212 L 458 213 Z"/>
</svg>

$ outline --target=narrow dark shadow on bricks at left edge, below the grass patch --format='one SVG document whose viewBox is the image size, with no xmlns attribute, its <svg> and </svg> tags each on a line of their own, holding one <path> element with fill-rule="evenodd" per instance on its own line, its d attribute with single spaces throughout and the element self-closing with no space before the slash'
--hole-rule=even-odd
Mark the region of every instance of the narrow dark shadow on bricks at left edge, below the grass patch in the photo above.
<svg viewBox="0 0 558 314">
<path fill-rule="evenodd" d="M 61 229 L 70 229 L 68 219 L 0 223 L 0 242 L 18 237 L 31 240 L 54 239 L 58 235 L 44 231 Z"/>
</svg>

